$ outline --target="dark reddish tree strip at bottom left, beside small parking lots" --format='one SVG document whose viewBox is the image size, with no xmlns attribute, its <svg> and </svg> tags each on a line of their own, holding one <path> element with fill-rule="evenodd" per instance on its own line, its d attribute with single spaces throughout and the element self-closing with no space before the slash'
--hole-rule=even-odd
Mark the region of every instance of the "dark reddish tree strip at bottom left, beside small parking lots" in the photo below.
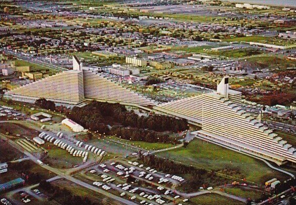
<svg viewBox="0 0 296 205">
<path fill-rule="evenodd" d="M 53 194 L 53 198 L 59 198 L 59 202 L 65 205 L 94 205 L 102 204 L 100 202 L 91 202 L 87 197 L 81 197 L 78 195 L 72 194 L 68 189 L 61 189 L 58 186 L 53 186 L 51 183 L 46 182 L 45 180 L 40 181 L 40 189 L 45 190 Z"/>
</svg>

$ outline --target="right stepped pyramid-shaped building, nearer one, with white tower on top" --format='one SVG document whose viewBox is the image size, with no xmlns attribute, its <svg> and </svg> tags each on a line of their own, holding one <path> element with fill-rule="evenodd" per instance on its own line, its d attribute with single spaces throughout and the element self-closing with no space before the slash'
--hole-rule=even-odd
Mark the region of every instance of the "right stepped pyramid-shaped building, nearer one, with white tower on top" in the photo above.
<svg viewBox="0 0 296 205">
<path fill-rule="evenodd" d="M 200 125 L 202 129 L 194 134 L 203 140 L 278 165 L 296 163 L 296 148 L 242 110 L 240 98 L 241 93 L 229 90 L 228 77 L 224 77 L 216 92 L 170 101 L 154 109 Z"/>
</svg>

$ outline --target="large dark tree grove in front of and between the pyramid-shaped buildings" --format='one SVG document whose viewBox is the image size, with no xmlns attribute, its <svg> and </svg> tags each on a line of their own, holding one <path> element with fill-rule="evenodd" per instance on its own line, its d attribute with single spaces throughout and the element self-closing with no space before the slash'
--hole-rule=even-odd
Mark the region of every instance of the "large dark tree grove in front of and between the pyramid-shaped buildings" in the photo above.
<svg viewBox="0 0 296 205">
<path fill-rule="evenodd" d="M 127 111 L 125 106 L 118 103 L 111 104 L 98 101 L 92 101 L 82 108 L 74 107 L 67 116 L 87 129 L 106 134 L 109 133 L 106 119 L 124 127 L 149 129 L 157 132 L 178 132 L 188 128 L 187 121 L 184 119 L 179 120 L 164 115 L 139 117 L 134 111 Z"/>
</svg>

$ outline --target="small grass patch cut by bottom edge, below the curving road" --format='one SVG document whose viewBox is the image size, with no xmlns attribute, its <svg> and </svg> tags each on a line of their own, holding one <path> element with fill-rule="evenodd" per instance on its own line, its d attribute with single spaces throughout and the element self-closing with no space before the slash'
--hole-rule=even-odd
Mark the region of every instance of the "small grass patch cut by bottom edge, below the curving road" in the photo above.
<svg viewBox="0 0 296 205">
<path fill-rule="evenodd" d="M 200 196 L 195 196 L 189 199 L 191 204 L 202 204 L 202 205 L 216 205 L 216 204 L 227 204 L 227 205 L 242 205 L 243 202 L 229 199 L 225 196 L 220 196 L 218 194 L 203 194 Z"/>
</svg>

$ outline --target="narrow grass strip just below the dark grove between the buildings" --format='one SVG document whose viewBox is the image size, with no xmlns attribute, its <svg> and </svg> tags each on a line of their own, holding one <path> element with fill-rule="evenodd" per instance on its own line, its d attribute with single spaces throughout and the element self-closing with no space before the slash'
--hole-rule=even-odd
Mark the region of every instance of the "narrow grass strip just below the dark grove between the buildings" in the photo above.
<svg viewBox="0 0 296 205">
<path fill-rule="evenodd" d="M 132 140 L 120 139 L 114 136 L 112 136 L 111 139 L 120 141 L 121 143 L 127 143 L 129 145 L 144 148 L 147 150 L 158 150 L 158 149 L 165 149 L 165 148 L 175 146 L 174 144 L 168 144 L 168 143 L 150 143 L 150 142 L 143 142 L 143 141 L 132 141 Z"/>
</svg>

